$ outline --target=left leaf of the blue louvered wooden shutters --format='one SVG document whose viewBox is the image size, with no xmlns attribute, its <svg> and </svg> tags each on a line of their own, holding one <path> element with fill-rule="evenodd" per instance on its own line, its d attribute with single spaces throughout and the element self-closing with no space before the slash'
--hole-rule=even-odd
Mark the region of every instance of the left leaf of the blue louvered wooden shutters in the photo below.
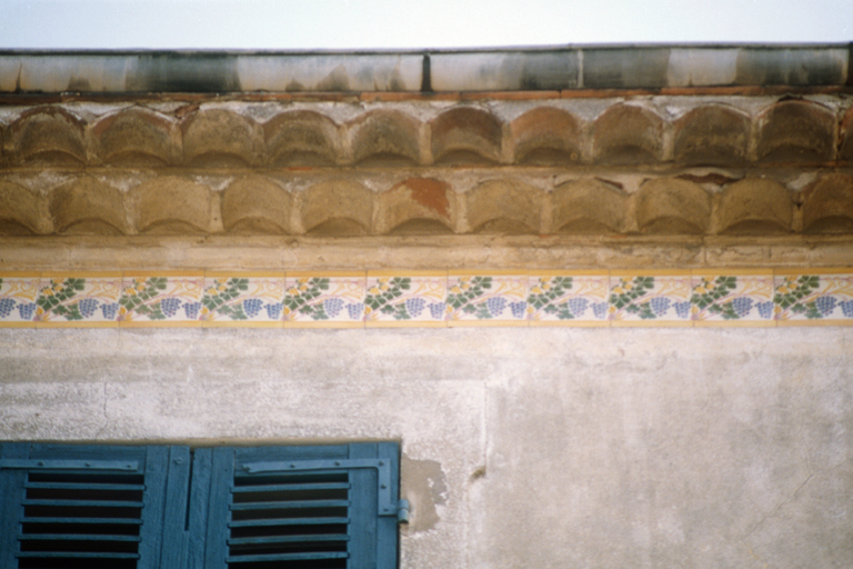
<svg viewBox="0 0 853 569">
<path fill-rule="evenodd" d="M 163 528 L 183 519 L 165 507 L 171 450 L 0 445 L 0 567 L 178 567 L 161 563 Z"/>
</svg>

